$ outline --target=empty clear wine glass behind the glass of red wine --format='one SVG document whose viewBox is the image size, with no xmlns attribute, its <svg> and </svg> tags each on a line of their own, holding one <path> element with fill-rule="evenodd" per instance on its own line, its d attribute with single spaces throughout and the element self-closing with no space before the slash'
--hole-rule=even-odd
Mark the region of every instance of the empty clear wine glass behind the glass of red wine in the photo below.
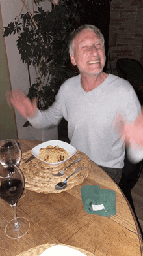
<svg viewBox="0 0 143 256">
<path fill-rule="evenodd" d="M 12 165 L 19 165 L 21 161 L 21 149 L 16 140 L 0 140 L 0 162 L 8 168 Z"/>
</svg>

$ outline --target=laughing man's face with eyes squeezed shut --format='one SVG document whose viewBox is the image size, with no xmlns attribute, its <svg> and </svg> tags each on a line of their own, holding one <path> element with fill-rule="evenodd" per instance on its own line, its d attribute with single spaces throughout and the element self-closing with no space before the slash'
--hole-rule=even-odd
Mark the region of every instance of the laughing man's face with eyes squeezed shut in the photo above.
<svg viewBox="0 0 143 256">
<path fill-rule="evenodd" d="M 99 74 L 105 65 L 105 50 L 103 41 L 93 31 L 81 31 L 73 41 L 74 55 L 70 54 L 73 65 L 77 65 L 79 72 Z"/>
</svg>

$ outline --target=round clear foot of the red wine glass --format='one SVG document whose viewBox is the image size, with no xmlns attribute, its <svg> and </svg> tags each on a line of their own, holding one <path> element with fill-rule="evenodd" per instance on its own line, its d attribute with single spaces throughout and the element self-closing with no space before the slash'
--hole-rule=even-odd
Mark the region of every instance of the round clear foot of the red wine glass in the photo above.
<svg viewBox="0 0 143 256">
<path fill-rule="evenodd" d="M 30 223 L 25 217 L 17 217 L 19 227 L 16 229 L 15 221 L 12 219 L 5 228 L 6 236 L 12 239 L 18 239 L 27 234 L 30 228 Z"/>
</svg>

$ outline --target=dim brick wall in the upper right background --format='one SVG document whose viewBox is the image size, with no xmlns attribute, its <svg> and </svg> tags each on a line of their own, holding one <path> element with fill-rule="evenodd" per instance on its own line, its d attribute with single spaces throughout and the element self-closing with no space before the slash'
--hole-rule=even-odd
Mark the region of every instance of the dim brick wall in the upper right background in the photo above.
<svg viewBox="0 0 143 256">
<path fill-rule="evenodd" d="M 110 4 L 109 61 L 116 73 L 117 59 L 127 57 L 143 65 L 143 0 L 112 0 Z"/>
</svg>

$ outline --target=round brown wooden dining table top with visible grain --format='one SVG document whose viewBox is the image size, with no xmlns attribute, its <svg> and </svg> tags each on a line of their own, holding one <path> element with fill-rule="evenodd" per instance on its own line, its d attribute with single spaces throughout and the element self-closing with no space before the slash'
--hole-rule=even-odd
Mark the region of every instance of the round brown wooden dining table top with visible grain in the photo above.
<svg viewBox="0 0 143 256">
<path fill-rule="evenodd" d="M 19 140 L 23 152 L 39 141 Z M 83 185 L 99 185 L 116 193 L 116 216 L 104 217 L 85 212 L 81 200 Z M 0 199 L 0 255 L 16 256 L 40 244 L 62 243 L 94 253 L 96 256 L 142 255 L 143 244 L 138 224 L 122 191 L 95 163 L 86 180 L 68 191 L 56 194 L 26 191 L 18 201 L 18 216 L 27 217 L 29 232 L 17 240 L 5 234 L 13 218 L 10 206 Z"/>
</svg>

